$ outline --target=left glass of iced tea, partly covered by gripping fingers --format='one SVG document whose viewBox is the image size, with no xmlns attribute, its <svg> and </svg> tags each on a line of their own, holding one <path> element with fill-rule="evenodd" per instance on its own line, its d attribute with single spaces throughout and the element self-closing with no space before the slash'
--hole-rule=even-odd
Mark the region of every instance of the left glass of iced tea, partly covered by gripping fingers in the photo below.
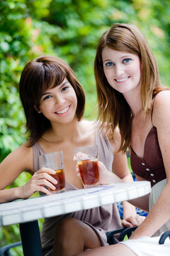
<svg viewBox="0 0 170 256">
<path fill-rule="evenodd" d="M 65 176 L 64 176 L 64 157 L 62 151 L 53 152 L 50 154 L 40 155 L 40 166 L 48 167 L 55 171 L 55 174 L 50 174 L 57 180 L 55 190 L 48 188 L 51 193 L 61 193 L 65 191 Z"/>
</svg>

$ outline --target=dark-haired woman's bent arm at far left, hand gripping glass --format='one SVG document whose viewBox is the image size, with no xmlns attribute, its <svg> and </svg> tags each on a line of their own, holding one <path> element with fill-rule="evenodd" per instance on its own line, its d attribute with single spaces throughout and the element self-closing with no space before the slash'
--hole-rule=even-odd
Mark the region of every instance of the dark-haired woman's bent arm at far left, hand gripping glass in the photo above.
<svg viewBox="0 0 170 256">
<path fill-rule="evenodd" d="M 17 188 L 4 189 L 23 171 L 28 171 L 33 175 L 26 184 Z M 53 174 L 54 171 L 44 168 L 35 174 L 33 173 L 33 149 L 23 144 L 6 156 L 6 159 L 0 164 L 0 203 L 13 201 L 18 198 L 28 198 L 35 191 L 42 191 L 50 195 L 50 192 L 44 186 L 46 185 L 54 189 L 52 183 L 56 181 L 47 172 Z"/>
</svg>

